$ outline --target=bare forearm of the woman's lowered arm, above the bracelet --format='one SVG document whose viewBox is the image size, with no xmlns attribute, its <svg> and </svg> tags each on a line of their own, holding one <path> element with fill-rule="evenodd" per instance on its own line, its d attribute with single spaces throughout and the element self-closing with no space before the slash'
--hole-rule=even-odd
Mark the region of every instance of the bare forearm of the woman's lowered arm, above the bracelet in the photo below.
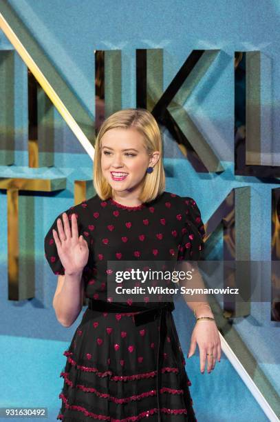
<svg viewBox="0 0 280 422">
<path fill-rule="evenodd" d="M 199 289 L 201 291 L 204 290 L 204 281 L 202 279 L 199 269 L 197 268 L 197 265 L 190 263 L 185 264 L 186 268 L 184 268 L 184 271 L 191 271 L 191 268 L 194 268 L 195 270 L 192 271 L 193 277 L 190 280 L 180 280 L 180 285 L 183 285 L 187 289 Z M 193 291 L 192 294 L 185 293 L 183 294 L 183 296 L 184 301 L 186 301 L 186 304 L 189 306 L 189 308 L 192 311 L 195 310 L 197 318 L 199 316 L 213 317 L 213 312 L 211 311 L 211 309 L 208 308 L 210 307 L 210 304 L 208 303 L 206 294 Z"/>
</svg>

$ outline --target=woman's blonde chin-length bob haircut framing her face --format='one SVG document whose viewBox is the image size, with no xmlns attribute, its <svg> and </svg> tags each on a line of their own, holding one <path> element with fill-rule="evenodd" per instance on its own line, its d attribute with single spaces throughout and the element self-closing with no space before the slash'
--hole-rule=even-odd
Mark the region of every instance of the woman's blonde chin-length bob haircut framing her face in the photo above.
<svg viewBox="0 0 280 422">
<path fill-rule="evenodd" d="M 165 189 L 165 174 L 162 160 L 162 138 L 160 128 L 153 114 L 144 108 L 127 108 L 111 114 L 101 125 L 96 143 L 94 145 L 94 189 L 96 193 L 105 201 L 113 197 L 114 190 L 103 176 L 101 170 L 101 148 L 104 134 L 111 129 L 135 129 L 144 138 L 144 147 L 147 154 L 155 151 L 160 152 L 158 162 L 153 166 L 153 172 L 146 173 L 142 181 L 142 192 L 138 199 L 144 202 L 150 202 Z"/>
</svg>

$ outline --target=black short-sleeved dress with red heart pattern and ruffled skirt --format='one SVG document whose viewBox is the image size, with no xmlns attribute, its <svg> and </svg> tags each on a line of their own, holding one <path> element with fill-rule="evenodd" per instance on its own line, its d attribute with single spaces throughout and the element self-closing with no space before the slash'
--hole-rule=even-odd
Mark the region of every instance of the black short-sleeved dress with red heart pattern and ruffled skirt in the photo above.
<svg viewBox="0 0 280 422">
<path fill-rule="evenodd" d="M 133 300 L 127 301 L 123 312 L 104 312 L 111 300 L 108 260 L 200 259 L 205 231 L 195 201 L 163 192 L 149 203 L 127 207 L 96 195 L 66 212 L 70 225 L 71 214 L 76 214 L 78 234 L 89 246 L 83 283 L 91 309 L 83 314 L 64 352 L 67 361 L 61 372 L 64 383 L 57 419 L 196 421 L 172 312 L 165 309 L 140 325 L 136 315 L 142 312 L 131 312 Z M 64 274 L 52 237 L 58 217 L 45 237 L 45 258 L 54 274 Z M 94 310 L 94 303 L 99 310 Z"/>
</svg>

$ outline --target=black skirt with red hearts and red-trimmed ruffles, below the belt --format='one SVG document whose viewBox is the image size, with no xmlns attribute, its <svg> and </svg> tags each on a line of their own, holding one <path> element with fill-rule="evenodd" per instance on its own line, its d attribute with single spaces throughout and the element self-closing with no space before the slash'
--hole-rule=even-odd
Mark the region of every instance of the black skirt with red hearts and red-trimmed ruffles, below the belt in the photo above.
<svg viewBox="0 0 280 422">
<path fill-rule="evenodd" d="M 157 372 L 159 319 L 136 326 L 133 312 L 87 310 L 68 350 L 57 419 L 65 422 L 196 421 L 191 381 L 170 314 Z M 177 350 L 177 356 L 174 354 Z M 182 361 L 178 368 L 178 358 Z M 160 376 L 157 394 L 157 376 Z"/>
</svg>

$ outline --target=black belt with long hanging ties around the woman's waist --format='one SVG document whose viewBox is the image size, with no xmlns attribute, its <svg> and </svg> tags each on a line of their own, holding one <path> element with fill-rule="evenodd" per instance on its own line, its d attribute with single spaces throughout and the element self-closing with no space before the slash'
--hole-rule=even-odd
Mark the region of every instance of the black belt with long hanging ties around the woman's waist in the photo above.
<svg viewBox="0 0 280 422">
<path fill-rule="evenodd" d="M 158 339 L 158 356 L 157 356 L 157 400 L 158 400 L 158 421 L 162 421 L 161 412 L 160 412 L 160 379 L 162 371 L 162 350 L 164 340 L 166 335 L 169 332 L 171 335 L 171 347 L 173 348 L 173 354 L 179 370 L 179 383 L 181 388 L 184 389 L 181 379 L 185 379 L 184 372 L 184 363 L 181 361 L 180 352 L 177 349 L 178 338 L 177 334 L 173 332 L 173 321 L 171 312 L 175 309 L 173 302 L 164 302 L 157 303 L 153 308 L 144 308 L 136 305 L 126 305 L 122 303 L 110 303 L 106 301 L 99 301 L 95 299 L 89 299 L 89 310 L 97 310 L 100 312 L 139 312 L 138 314 L 133 315 L 135 325 L 142 325 L 150 321 L 155 321 L 160 317 L 160 329 L 158 330 L 159 339 Z"/>
</svg>

